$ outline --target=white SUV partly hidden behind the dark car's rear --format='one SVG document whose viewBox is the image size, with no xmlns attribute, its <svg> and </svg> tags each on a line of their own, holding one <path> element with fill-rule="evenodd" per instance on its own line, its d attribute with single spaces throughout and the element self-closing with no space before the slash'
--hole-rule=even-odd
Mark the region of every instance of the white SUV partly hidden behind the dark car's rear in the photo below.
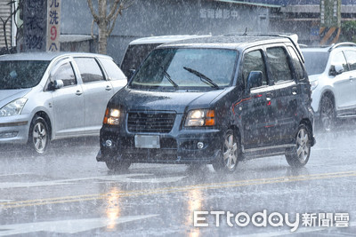
<svg viewBox="0 0 356 237">
<path fill-rule="evenodd" d="M 336 118 L 356 117 L 356 43 L 302 51 L 316 121 L 324 130 L 332 130 Z"/>
</svg>

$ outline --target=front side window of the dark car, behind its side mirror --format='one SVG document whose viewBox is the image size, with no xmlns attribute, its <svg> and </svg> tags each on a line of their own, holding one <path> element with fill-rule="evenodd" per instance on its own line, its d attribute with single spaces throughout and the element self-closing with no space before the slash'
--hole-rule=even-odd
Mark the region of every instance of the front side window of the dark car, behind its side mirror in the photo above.
<svg viewBox="0 0 356 237">
<path fill-rule="evenodd" d="M 247 78 L 250 72 L 252 71 L 261 71 L 262 72 L 262 84 L 266 85 L 267 82 L 267 73 L 266 65 L 263 59 L 262 51 L 249 51 L 244 56 L 244 61 L 242 64 L 242 77 L 247 87 Z"/>
</svg>

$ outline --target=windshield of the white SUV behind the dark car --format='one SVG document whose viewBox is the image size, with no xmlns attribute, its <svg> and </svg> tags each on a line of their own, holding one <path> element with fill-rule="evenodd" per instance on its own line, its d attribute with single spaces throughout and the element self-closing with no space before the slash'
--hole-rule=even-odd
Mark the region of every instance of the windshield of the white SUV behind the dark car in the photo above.
<svg viewBox="0 0 356 237">
<path fill-rule="evenodd" d="M 322 74 L 328 63 L 327 51 L 303 51 L 304 66 L 308 75 Z"/>
</svg>

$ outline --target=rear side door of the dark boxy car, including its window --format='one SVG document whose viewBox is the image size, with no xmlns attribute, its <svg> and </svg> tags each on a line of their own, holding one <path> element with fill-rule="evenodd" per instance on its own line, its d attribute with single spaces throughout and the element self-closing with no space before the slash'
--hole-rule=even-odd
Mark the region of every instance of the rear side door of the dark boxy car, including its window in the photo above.
<svg viewBox="0 0 356 237">
<path fill-rule="evenodd" d="M 300 90 L 293 73 L 292 59 L 284 44 L 266 48 L 269 75 L 274 83 L 276 113 L 274 114 L 273 138 L 275 145 L 290 143 L 295 136 L 298 97 Z"/>
</svg>

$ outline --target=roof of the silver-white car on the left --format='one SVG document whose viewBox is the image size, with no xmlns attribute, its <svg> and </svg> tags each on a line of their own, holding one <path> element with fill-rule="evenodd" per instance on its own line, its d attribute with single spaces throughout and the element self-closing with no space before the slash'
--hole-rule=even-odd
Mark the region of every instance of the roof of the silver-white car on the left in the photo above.
<svg viewBox="0 0 356 237">
<path fill-rule="evenodd" d="M 98 57 L 112 59 L 108 55 L 96 54 L 90 52 L 20 52 L 5 54 L 0 56 L 0 60 L 44 60 L 50 61 L 55 58 L 63 57 Z"/>
</svg>

